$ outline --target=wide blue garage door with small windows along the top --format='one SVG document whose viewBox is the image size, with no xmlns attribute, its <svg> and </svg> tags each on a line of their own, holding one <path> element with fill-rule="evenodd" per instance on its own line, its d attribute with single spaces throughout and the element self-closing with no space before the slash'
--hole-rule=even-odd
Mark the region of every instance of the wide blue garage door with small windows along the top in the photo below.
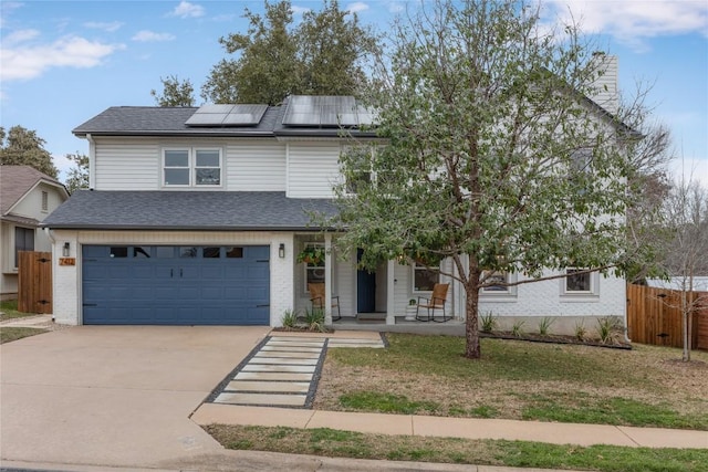
<svg viewBox="0 0 708 472">
<path fill-rule="evenodd" d="M 268 247 L 84 245 L 86 325 L 269 325 Z"/>
</svg>

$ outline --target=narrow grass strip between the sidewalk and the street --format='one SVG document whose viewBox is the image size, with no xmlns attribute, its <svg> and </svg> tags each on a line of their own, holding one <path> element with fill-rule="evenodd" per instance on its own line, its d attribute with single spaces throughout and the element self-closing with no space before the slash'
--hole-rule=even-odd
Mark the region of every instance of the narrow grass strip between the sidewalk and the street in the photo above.
<svg viewBox="0 0 708 472">
<path fill-rule="evenodd" d="M 332 429 L 211 424 L 227 449 L 514 468 L 607 472 L 706 472 L 708 449 L 556 445 L 525 441 L 364 434 Z"/>
</svg>

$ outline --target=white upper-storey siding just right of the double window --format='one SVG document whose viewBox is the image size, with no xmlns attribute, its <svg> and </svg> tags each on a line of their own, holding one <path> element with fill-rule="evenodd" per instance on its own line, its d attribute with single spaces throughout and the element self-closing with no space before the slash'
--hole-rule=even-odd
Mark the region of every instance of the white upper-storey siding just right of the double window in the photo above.
<svg viewBox="0 0 708 472">
<path fill-rule="evenodd" d="M 227 147 L 229 190 L 285 191 L 285 145 L 275 140 L 238 141 Z"/>
</svg>

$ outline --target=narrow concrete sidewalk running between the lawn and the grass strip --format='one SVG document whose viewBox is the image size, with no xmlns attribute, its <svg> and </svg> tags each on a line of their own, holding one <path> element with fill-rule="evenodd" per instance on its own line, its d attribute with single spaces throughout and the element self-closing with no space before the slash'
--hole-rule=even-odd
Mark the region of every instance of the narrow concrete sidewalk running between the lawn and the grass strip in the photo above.
<svg viewBox="0 0 708 472">
<path fill-rule="evenodd" d="M 197 424 L 331 428 L 381 434 L 464 439 L 507 439 L 552 444 L 612 444 L 631 448 L 708 448 L 708 431 L 573 424 L 540 421 L 354 413 L 202 403 L 191 416 Z"/>
</svg>

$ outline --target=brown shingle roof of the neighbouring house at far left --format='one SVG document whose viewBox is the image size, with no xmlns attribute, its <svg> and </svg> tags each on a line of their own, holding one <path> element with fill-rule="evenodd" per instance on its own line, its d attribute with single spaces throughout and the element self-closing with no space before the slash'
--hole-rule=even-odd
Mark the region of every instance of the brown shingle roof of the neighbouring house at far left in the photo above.
<svg viewBox="0 0 708 472">
<path fill-rule="evenodd" d="M 30 166 L 0 165 L 0 218 L 24 224 L 37 224 L 38 220 L 12 213 L 12 209 L 41 182 L 56 187 L 69 198 L 66 188 L 56 179 Z"/>
</svg>

